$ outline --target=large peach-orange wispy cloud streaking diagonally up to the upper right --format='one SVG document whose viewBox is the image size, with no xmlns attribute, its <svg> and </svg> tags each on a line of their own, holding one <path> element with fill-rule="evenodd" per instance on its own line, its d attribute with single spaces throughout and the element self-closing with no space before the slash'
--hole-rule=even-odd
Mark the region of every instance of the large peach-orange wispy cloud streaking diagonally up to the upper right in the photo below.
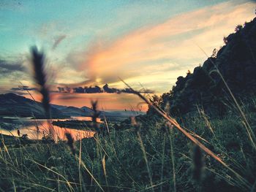
<svg viewBox="0 0 256 192">
<path fill-rule="evenodd" d="M 78 68 L 98 84 L 117 83 L 118 77 L 130 82 L 174 83 L 176 77 L 205 60 L 197 45 L 210 55 L 225 35 L 252 20 L 254 13 L 254 2 L 227 1 L 140 28 L 108 44 L 98 39 L 83 53 L 76 53 Z"/>
</svg>

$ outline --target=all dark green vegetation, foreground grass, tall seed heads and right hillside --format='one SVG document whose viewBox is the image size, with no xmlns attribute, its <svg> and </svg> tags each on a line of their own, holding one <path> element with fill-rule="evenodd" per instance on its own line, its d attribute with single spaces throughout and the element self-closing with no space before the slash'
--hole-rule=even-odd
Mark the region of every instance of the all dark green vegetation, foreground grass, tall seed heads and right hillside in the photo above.
<svg viewBox="0 0 256 192">
<path fill-rule="evenodd" d="M 216 57 L 178 77 L 160 98 L 148 101 L 127 85 L 149 105 L 148 114 L 118 126 L 105 122 L 109 134 L 99 131 L 94 101 L 93 138 L 1 137 L 0 190 L 256 191 L 255 26 L 256 19 L 238 26 Z M 36 48 L 31 54 L 50 117 L 44 54 Z"/>
</svg>

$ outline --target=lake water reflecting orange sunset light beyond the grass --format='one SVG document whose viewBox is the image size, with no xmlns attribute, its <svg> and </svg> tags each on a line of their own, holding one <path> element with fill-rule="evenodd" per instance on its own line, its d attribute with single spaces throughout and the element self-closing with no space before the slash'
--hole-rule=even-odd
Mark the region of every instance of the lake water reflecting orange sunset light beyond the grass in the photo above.
<svg viewBox="0 0 256 192">
<path fill-rule="evenodd" d="M 83 139 L 83 138 L 90 138 L 94 137 L 95 131 L 88 131 L 82 129 L 75 129 L 75 128 L 61 128 L 59 126 L 53 126 L 51 123 L 53 120 L 91 120 L 90 117 L 72 117 L 69 119 L 52 119 L 52 120 L 45 120 L 45 119 L 29 119 L 29 118 L 18 118 L 15 119 L 21 123 L 22 128 L 14 129 L 12 131 L 7 131 L 5 129 L 0 128 L 0 134 L 7 134 L 13 135 L 18 137 L 18 130 L 20 131 L 20 136 L 22 134 L 27 134 L 29 139 L 42 139 L 42 137 L 52 134 L 55 140 L 58 139 L 66 139 L 65 134 L 69 133 L 72 135 L 72 138 L 75 140 Z M 97 120 L 100 122 L 100 120 Z M 86 128 L 86 127 L 85 127 Z"/>
</svg>

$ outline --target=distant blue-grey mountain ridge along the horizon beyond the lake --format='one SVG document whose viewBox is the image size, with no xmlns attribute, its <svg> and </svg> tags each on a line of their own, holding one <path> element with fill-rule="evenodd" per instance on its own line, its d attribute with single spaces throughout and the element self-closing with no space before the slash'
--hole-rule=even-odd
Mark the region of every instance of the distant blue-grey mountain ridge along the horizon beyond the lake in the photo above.
<svg viewBox="0 0 256 192">
<path fill-rule="evenodd" d="M 51 118 L 70 118 L 72 116 L 91 116 L 93 111 L 91 108 L 83 106 L 72 107 L 57 104 L 50 104 Z M 134 115 L 143 115 L 144 112 L 130 111 L 108 111 L 101 112 L 100 117 L 104 115 L 107 118 L 121 117 L 128 118 Z M 45 118 L 45 113 L 42 104 L 38 101 L 27 99 L 24 96 L 18 96 L 15 93 L 0 94 L 0 115 L 2 116 L 18 116 Z"/>
</svg>

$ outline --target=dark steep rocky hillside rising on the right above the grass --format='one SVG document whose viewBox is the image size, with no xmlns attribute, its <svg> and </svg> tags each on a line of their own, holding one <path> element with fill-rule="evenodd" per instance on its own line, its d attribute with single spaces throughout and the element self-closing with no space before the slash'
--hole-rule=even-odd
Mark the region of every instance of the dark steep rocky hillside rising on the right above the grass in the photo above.
<svg viewBox="0 0 256 192">
<path fill-rule="evenodd" d="M 195 111 L 197 105 L 207 112 L 222 114 L 230 93 L 221 75 L 237 98 L 256 93 L 256 18 L 237 26 L 236 33 L 224 41 L 226 45 L 203 66 L 195 67 L 186 77 L 178 77 L 172 91 L 159 99 L 161 107 L 169 102 L 172 115 Z M 149 114 L 152 112 L 148 110 Z"/>
</svg>

